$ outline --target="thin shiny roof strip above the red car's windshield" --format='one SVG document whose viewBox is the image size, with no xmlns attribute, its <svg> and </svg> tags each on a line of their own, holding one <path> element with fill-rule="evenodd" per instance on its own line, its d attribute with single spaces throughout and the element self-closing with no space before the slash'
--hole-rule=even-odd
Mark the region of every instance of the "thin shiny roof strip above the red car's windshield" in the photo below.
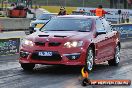
<svg viewBox="0 0 132 88">
<path fill-rule="evenodd" d="M 87 15 L 63 15 L 63 16 L 57 16 L 58 18 L 91 18 L 91 19 L 97 19 L 100 18 L 99 16 L 87 16 Z"/>
</svg>

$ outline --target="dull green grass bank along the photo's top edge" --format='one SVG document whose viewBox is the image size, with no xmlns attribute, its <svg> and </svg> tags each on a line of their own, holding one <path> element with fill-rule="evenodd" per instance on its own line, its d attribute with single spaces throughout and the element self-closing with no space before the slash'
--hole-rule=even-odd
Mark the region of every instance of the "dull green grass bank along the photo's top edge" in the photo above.
<svg viewBox="0 0 132 88">
<path fill-rule="evenodd" d="M 109 0 L 33 0 L 33 3 L 41 6 L 82 7 L 83 1 L 85 7 L 97 7 L 98 4 L 102 4 L 104 7 L 109 7 Z"/>
</svg>

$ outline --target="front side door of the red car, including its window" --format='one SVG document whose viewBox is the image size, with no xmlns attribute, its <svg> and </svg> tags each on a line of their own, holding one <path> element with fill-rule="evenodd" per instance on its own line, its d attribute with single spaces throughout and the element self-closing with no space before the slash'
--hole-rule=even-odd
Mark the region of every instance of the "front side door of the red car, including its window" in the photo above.
<svg viewBox="0 0 132 88">
<path fill-rule="evenodd" d="M 95 62 L 101 62 L 107 56 L 107 33 L 102 23 L 102 19 L 96 19 L 96 38 L 94 40 L 95 48 L 96 48 L 96 55 L 95 55 Z"/>
</svg>

